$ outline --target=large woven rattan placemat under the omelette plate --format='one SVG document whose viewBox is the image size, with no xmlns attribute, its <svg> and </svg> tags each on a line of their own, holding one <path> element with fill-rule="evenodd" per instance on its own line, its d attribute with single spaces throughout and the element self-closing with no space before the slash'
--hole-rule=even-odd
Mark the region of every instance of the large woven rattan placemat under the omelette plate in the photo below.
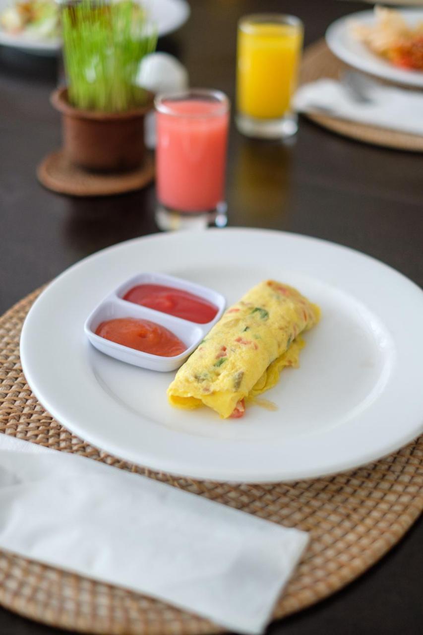
<svg viewBox="0 0 423 635">
<path fill-rule="evenodd" d="M 22 374 L 20 330 L 39 292 L 0 318 L 0 432 L 145 474 L 274 523 L 309 531 L 309 548 L 274 617 L 309 606 L 351 582 L 391 549 L 423 510 L 423 436 L 360 469 L 290 485 L 234 486 L 173 478 L 88 445 L 43 410 Z M 1 551 L 0 603 L 40 622 L 90 633 L 222 631 L 208 620 L 155 599 Z"/>
</svg>

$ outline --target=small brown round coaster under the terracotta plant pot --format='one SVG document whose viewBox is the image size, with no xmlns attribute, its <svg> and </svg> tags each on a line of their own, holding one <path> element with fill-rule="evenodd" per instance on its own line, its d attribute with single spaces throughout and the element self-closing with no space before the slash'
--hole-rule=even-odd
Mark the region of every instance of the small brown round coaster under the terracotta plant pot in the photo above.
<svg viewBox="0 0 423 635">
<path fill-rule="evenodd" d="M 63 150 L 48 154 L 37 168 L 39 182 L 53 192 L 71 196 L 111 196 L 139 190 L 154 178 L 154 163 L 147 154 L 144 164 L 130 172 L 99 173 L 77 168 Z"/>
</svg>

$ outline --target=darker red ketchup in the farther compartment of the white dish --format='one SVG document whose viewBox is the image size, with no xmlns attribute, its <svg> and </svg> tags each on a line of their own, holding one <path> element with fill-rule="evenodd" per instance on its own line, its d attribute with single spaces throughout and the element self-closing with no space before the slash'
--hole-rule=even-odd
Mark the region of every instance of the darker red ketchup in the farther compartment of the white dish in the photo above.
<svg viewBox="0 0 423 635">
<path fill-rule="evenodd" d="M 197 324 L 210 322 L 218 311 L 214 304 L 198 295 L 161 284 L 137 284 L 123 299 Z"/>
</svg>

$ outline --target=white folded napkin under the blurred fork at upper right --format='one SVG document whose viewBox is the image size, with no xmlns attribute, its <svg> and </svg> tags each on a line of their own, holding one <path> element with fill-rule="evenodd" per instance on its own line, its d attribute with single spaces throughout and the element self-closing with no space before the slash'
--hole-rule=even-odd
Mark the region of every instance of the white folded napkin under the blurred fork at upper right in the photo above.
<svg viewBox="0 0 423 635">
<path fill-rule="evenodd" d="M 348 119 L 388 130 L 423 135 L 423 94 L 375 84 L 370 102 L 360 103 L 334 79 L 300 86 L 294 99 L 299 112 L 325 112 L 330 117 Z"/>
</svg>

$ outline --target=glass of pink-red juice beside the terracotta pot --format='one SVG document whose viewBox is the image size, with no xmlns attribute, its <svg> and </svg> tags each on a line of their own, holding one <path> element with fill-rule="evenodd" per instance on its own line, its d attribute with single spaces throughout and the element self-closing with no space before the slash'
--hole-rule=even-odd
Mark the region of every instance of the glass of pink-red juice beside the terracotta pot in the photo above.
<svg viewBox="0 0 423 635">
<path fill-rule="evenodd" d="M 171 227 L 178 226 L 178 215 L 218 216 L 217 224 L 225 224 L 229 107 L 224 93 L 215 90 L 156 98 L 157 197 L 161 218 L 166 213 Z"/>
</svg>

